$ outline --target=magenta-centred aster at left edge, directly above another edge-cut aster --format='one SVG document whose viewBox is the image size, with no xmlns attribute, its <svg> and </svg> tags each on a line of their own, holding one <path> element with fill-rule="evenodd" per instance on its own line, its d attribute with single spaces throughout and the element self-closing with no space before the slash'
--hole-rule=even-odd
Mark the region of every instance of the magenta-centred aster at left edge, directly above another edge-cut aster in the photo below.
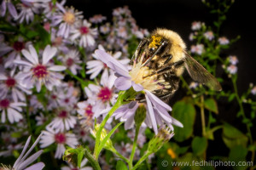
<svg viewBox="0 0 256 170">
<path fill-rule="evenodd" d="M 23 92 L 32 94 L 30 90 L 20 85 L 20 80 L 17 78 L 17 75 L 14 75 L 14 71 L 10 72 L 9 76 L 0 73 L 0 88 L 2 89 L 0 99 L 5 98 L 11 92 L 11 97 L 15 102 L 26 100 Z"/>
</svg>

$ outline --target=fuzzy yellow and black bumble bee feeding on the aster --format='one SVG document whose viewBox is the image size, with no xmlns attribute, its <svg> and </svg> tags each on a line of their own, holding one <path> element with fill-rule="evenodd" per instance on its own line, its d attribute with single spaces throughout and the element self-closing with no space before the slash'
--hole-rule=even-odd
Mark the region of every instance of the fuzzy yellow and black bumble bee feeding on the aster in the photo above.
<svg viewBox="0 0 256 170">
<path fill-rule="evenodd" d="M 156 29 L 149 38 L 144 38 L 132 57 L 137 61 L 143 55 L 143 65 L 151 73 L 146 77 L 157 75 L 164 80 L 164 88 L 154 91 L 160 99 L 169 99 L 178 88 L 180 76 L 184 69 L 195 82 L 207 85 L 213 90 L 221 90 L 217 79 L 186 52 L 183 39 L 174 31 Z"/>
</svg>

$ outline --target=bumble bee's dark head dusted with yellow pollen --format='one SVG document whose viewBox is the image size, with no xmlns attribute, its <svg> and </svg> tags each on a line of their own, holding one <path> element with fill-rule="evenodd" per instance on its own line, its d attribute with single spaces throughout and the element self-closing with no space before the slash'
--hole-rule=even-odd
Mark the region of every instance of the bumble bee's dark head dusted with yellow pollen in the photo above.
<svg viewBox="0 0 256 170">
<path fill-rule="evenodd" d="M 159 36 L 159 35 L 151 36 L 149 38 L 148 53 L 154 54 L 158 50 L 157 53 L 160 54 L 163 51 L 163 47 L 166 46 L 165 42 L 166 42 L 166 39 L 162 36 Z"/>
</svg>

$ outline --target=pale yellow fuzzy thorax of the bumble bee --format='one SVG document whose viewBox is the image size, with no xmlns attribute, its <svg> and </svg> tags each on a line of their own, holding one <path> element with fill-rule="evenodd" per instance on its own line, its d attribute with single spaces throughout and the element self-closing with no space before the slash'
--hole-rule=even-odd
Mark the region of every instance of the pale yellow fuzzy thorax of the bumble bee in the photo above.
<svg viewBox="0 0 256 170">
<path fill-rule="evenodd" d="M 172 54 L 172 62 L 177 62 L 185 57 L 183 51 L 186 49 L 186 45 L 183 39 L 175 32 L 164 28 L 157 28 L 153 31 L 152 35 L 159 35 L 165 37 L 172 43 L 170 48 L 170 54 Z"/>
</svg>

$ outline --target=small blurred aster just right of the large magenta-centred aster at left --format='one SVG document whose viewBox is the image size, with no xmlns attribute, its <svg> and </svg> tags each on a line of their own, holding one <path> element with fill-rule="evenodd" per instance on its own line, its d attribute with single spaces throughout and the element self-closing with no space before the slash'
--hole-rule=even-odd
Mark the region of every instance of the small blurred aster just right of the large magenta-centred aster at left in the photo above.
<svg viewBox="0 0 256 170">
<path fill-rule="evenodd" d="M 78 74 L 78 70 L 81 70 L 82 67 L 79 65 L 82 61 L 79 59 L 79 51 L 70 50 L 67 54 L 62 57 L 63 65 L 67 66 L 67 69 L 70 70 L 74 75 Z"/>
</svg>

